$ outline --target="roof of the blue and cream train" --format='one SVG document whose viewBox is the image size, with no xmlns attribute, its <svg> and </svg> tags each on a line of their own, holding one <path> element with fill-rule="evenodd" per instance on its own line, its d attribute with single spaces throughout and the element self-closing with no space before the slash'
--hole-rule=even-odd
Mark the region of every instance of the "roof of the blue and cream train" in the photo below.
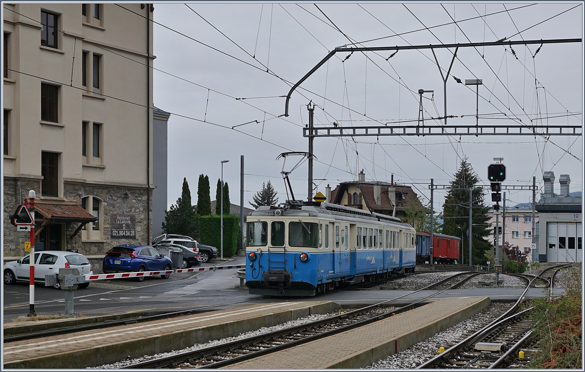
<svg viewBox="0 0 585 372">
<path fill-rule="evenodd" d="M 283 206 L 259 206 L 256 211 L 250 213 L 248 216 L 312 216 L 312 217 L 331 217 L 332 215 L 339 216 L 342 221 L 349 222 L 364 222 L 369 220 L 371 222 L 385 222 L 391 225 L 398 225 L 412 228 L 408 223 L 403 223 L 400 218 L 383 215 L 381 213 L 364 211 L 363 209 L 351 208 L 349 206 L 318 203 L 318 202 L 304 202 L 303 204 L 284 204 Z"/>
</svg>

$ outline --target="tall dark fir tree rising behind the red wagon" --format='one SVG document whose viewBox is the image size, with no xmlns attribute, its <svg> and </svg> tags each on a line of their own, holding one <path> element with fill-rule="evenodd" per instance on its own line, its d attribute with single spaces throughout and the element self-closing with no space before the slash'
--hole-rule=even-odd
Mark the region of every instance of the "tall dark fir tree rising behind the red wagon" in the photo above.
<svg viewBox="0 0 585 372">
<path fill-rule="evenodd" d="M 490 216 L 488 215 L 490 207 L 484 201 L 486 192 L 475 187 L 480 178 L 466 160 L 461 162 L 454 180 L 451 181 L 452 189 L 445 197 L 441 213 L 443 217 L 441 229 L 443 234 L 452 236 L 461 236 L 461 230 L 463 230 L 464 239 L 460 248 L 463 250 L 463 263 L 469 263 L 469 188 L 473 188 L 472 264 L 485 264 L 485 253 L 493 249 L 493 245 L 486 240 L 486 237 L 490 236 L 491 233 Z"/>
</svg>

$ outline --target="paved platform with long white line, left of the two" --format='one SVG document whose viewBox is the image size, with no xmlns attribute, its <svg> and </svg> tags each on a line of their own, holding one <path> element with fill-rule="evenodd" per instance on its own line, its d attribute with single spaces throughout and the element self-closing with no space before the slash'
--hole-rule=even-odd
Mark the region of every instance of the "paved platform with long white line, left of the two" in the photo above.
<svg viewBox="0 0 585 372">
<path fill-rule="evenodd" d="M 86 368 L 180 350 L 197 343 L 339 309 L 332 301 L 273 302 L 177 318 L 5 343 L 4 368 Z"/>
</svg>

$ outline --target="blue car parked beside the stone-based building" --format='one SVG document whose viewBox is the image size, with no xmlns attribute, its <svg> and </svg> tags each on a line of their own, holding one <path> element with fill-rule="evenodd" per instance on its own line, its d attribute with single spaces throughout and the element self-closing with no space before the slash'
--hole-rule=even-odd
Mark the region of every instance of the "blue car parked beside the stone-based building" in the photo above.
<svg viewBox="0 0 585 372">
<path fill-rule="evenodd" d="M 142 271 L 171 270 L 173 261 L 163 256 L 150 246 L 136 246 L 122 244 L 113 247 L 106 252 L 102 270 L 109 273 L 137 273 Z M 170 274 L 160 275 L 163 279 Z M 136 277 L 137 281 L 143 281 L 144 277 Z"/>
</svg>

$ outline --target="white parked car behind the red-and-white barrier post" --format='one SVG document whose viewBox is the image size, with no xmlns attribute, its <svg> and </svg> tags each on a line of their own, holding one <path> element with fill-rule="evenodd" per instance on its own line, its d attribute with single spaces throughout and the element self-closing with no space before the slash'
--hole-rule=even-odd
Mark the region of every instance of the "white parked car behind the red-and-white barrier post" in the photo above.
<svg viewBox="0 0 585 372">
<path fill-rule="evenodd" d="M 30 254 L 18 261 L 11 261 L 4 265 L 4 284 L 14 284 L 16 281 L 29 281 Z M 44 283 L 45 274 L 59 274 L 59 269 L 73 267 L 79 270 L 80 275 L 92 275 L 90 261 L 83 254 L 62 250 L 43 250 L 35 252 L 35 282 Z M 87 288 L 89 282 L 80 284 L 79 288 Z M 59 289 L 60 285 L 53 286 Z"/>
</svg>

